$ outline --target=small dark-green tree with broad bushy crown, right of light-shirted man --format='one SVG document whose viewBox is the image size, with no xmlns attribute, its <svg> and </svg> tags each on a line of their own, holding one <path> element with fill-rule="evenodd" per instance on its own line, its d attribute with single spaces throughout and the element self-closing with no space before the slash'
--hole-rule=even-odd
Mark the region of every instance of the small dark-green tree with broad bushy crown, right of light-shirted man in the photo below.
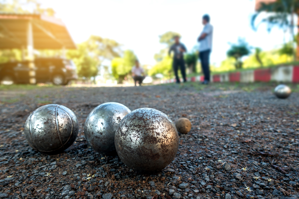
<svg viewBox="0 0 299 199">
<path fill-rule="evenodd" d="M 248 43 L 244 39 L 238 39 L 237 44 L 231 44 L 231 48 L 227 51 L 228 57 L 235 58 L 235 67 L 242 68 L 242 57 L 245 55 L 249 55 L 250 47 Z"/>
</svg>

